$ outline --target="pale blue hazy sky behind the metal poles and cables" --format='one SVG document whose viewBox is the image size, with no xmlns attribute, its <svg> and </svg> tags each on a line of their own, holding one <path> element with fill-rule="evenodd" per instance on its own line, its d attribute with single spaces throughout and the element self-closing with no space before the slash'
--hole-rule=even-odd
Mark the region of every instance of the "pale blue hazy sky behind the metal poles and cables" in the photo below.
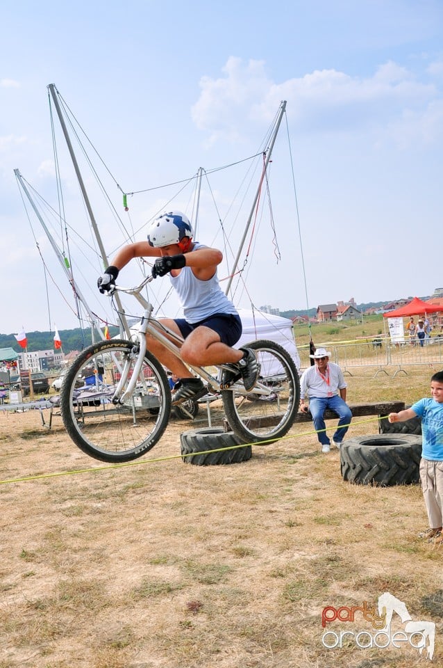
<svg viewBox="0 0 443 668">
<path fill-rule="evenodd" d="M 128 214 L 115 182 L 128 193 L 152 189 L 256 154 L 287 100 L 237 305 L 302 309 L 442 287 L 441 1 L 26 0 L 3 6 L 2 19 L 1 333 L 78 325 L 67 279 L 13 173 L 58 211 L 48 84 L 94 145 L 103 186 L 136 239 L 169 202 L 192 216 L 194 182 L 181 193 L 131 196 Z M 90 308 L 114 322 L 94 287 L 101 261 L 56 118 L 54 135 L 76 280 Z M 231 255 L 231 266 L 258 186 L 260 164 L 253 173 L 251 165 L 202 183 L 197 237 Z M 112 257 L 122 225 L 83 165 L 82 173 Z M 56 221 L 53 234 L 67 252 Z M 138 271 L 127 268 L 122 283 Z M 228 273 L 220 267 L 220 278 Z M 167 283 L 157 280 L 150 296 L 174 317 Z"/>
</svg>

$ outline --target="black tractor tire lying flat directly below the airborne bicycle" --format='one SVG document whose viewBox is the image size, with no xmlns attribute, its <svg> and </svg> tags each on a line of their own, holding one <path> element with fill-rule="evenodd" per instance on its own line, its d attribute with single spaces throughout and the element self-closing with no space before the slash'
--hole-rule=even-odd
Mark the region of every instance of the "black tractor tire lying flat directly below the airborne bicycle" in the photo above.
<svg viewBox="0 0 443 668">
<path fill-rule="evenodd" d="M 242 441 L 235 436 L 233 431 L 224 431 L 216 427 L 183 431 L 180 441 L 182 459 L 186 464 L 197 466 L 237 464 L 242 461 L 248 461 L 252 456 L 251 445 L 233 447 L 240 445 Z M 231 448 L 231 450 L 210 452 L 211 450 L 219 450 L 219 448 L 225 447 Z"/>
</svg>

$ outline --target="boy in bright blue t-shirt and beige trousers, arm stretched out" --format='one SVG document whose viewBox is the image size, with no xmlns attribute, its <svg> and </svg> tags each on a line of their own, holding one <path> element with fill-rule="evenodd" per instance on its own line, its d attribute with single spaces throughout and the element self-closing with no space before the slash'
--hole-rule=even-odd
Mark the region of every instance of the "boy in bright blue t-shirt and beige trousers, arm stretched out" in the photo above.
<svg viewBox="0 0 443 668">
<path fill-rule="evenodd" d="M 432 399 L 420 399 L 400 413 L 390 413 L 390 422 L 404 422 L 417 415 L 421 417 L 423 446 L 420 461 L 421 489 L 423 491 L 429 529 L 420 538 L 443 543 L 443 371 L 431 378 Z"/>
</svg>

